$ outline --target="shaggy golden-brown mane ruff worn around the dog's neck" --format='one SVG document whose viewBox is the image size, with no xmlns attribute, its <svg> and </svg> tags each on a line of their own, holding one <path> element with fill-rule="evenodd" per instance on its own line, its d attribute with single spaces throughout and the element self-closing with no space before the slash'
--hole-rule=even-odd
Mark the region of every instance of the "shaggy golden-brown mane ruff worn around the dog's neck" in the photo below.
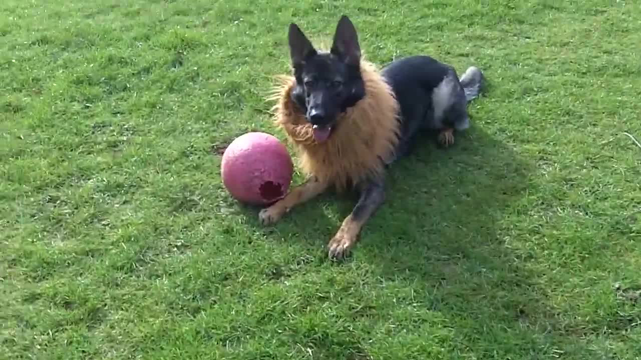
<svg viewBox="0 0 641 360">
<path fill-rule="evenodd" d="M 337 190 L 383 175 L 399 139 L 399 104 L 372 63 L 361 61 L 365 97 L 342 113 L 328 140 L 317 143 L 312 124 L 291 98 L 293 76 L 283 77 L 272 99 L 276 125 L 296 145 L 299 166 Z"/>
</svg>

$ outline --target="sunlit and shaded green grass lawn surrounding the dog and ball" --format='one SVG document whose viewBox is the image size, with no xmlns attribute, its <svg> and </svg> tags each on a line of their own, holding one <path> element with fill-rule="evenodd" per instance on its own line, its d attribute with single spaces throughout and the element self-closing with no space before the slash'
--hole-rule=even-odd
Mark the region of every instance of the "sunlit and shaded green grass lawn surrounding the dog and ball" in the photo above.
<svg viewBox="0 0 641 360">
<path fill-rule="evenodd" d="M 637 3 L 2 1 L 0 358 L 640 359 Z M 354 199 L 261 227 L 215 150 L 343 13 L 490 87 L 335 264 Z"/>
</svg>

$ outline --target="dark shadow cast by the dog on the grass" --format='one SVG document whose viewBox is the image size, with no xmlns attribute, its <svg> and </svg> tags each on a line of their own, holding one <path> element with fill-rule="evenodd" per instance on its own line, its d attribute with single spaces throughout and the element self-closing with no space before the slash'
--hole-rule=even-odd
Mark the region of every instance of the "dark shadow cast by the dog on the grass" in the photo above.
<svg viewBox="0 0 641 360">
<path fill-rule="evenodd" d="M 390 169 L 387 200 L 347 265 L 367 263 L 372 276 L 411 288 L 412 301 L 449 319 L 456 340 L 475 356 L 549 355 L 553 311 L 527 254 L 511 247 L 517 239 L 510 221 L 524 218 L 533 165 L 481 126 L 456 140 L 438 149 L 426 138 Z M 326 243 L 356 199 L 312 200 L 284 217 L 273 235 L 326 257 Z"/>
</svg>

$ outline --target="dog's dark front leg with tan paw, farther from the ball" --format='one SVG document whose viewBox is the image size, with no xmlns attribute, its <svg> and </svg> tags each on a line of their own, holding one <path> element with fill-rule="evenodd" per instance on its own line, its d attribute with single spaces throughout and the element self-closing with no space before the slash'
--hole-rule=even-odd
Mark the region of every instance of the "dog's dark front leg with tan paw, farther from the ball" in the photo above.
<svg viewBox="0 0 641 360">
<path fill-rule="evenodd" d="M 385 184 L 382 178 L 363 183 L 360 187 L 362 190 L 358 203 L 329 241 L 331 259 L 342 259 L 349 254 L 363 225 L 385 200 Z"/>
</svg>

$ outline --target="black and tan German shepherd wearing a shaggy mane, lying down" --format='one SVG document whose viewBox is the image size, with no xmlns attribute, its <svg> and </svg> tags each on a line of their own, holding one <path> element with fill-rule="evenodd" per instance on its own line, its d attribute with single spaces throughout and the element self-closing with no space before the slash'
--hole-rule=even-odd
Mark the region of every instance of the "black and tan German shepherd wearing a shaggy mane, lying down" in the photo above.
<svg viewBox="0 0 641 360">
<path fill-rule="evenodd" d="M 470 126 L 467 103 L 479 94 L 483 74 L 470 67 L 459 79 L 453 67 L 429 56 L 395 60 L 379 71 L 363 60 L 346 16 L 328 52 L 317 51 L 296 24 L 288 40 L 293 76 L 283 76 L 271 99 L 275 122 L 294 143 L 308 179 L 262 209 L 259 219 L 273 224 L 330 187 L 357 190 L 356 206 L 328 245 L 329 258 L 342 259 L 383 204 L 388 165 L 410 153 L 419 131 L 436 131 L 447 147 L 454 130 Z"/>
</svg>

